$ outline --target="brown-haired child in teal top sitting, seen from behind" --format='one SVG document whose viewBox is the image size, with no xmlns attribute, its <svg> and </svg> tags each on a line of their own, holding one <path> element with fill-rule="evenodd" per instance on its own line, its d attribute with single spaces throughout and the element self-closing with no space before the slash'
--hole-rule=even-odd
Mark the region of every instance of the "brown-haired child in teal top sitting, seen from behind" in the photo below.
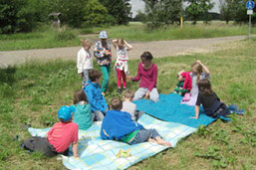
<svg viewBox="0 0 256 170">
<path fill-rule="evenodd" d="M 83 89 L 74 93 L 74 113 L 73 121 L 79 125 L 80 130 L 86 130 L 94 122 L 95 114 L 92 114 L 91 104 L 88 102 L 87 95 Z"/>
</svg>

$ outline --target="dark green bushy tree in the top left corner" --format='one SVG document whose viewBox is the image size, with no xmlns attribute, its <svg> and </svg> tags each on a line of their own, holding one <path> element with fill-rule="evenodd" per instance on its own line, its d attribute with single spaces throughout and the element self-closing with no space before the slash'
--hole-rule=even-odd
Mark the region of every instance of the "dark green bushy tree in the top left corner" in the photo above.
<svg viewBox="0 0 256 170">
<path fill-rule="evenodd" d="M 37 22 L 45 21 L 44 3 L 40 0 L 1 0 L 0 32 L 29 32 Z"/>
</svg>

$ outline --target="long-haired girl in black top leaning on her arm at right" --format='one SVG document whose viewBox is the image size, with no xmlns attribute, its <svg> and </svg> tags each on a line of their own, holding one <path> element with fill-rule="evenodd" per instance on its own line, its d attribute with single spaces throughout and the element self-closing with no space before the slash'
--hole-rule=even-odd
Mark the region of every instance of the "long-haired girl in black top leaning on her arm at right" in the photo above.
<svg viewBox="0 0 256 170">
<path fill-rule="evenodd" d="M 226 117 L 230 114 L 229 108 L 223 103 L 215 92 L 211 89 L 210 81 L 200 80 L 198 82 L 199 94 L 195 105 L 195 116 L 190 118 L 197 119 L 199 117 L 199 106 L 202 104 L 205 113 L 213 118 Z"/>
</svg>

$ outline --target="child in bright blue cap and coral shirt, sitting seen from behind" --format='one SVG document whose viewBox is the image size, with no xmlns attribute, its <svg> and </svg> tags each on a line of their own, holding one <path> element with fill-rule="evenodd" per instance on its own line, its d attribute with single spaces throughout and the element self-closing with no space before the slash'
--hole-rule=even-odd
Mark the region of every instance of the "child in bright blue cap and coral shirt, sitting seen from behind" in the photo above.
<svg viewBox="0 0 256 170">
<path fill-rule="evenodd" d="M 62 106 L 58 111 L 60 122 L 54 124 L 46 137 L 33 136 L 23 142 L 23 148 L 29 151 L 42 152 L 47 156 L 63 154 L 68 156 L 69 146 L 72 144 L 72 150 L 75 158 L 79 158 L 78 153 L 78 131 L 77 123 L 72 122 L 73 106 Z"/>
</svg>

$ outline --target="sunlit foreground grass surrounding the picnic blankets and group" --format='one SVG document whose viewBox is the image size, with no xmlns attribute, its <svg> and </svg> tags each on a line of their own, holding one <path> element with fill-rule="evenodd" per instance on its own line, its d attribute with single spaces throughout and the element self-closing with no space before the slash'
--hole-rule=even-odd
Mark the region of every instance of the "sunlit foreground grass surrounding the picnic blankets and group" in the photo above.
<svg viewBox="0 0 256 170">
<path fill-rule="evenodd" d="M 200 127 L 175 148 L 130 169 L 256 169 L 255 47 L 253 38 L 250 43 L 229 43 L 214 53 L 154 59 L 160 93 L 170 92 L 177 82 L 176 73 L 189 70 L 194 61 L 200 60 L 209 68 L 218 96 L 226 103 L 246 108 L 246 114 L 232 115 L 231 122 L 218 120 Z M 128 63 L 131 75 L 135 75 L 137 62 Z M 0 78 L 0 169 L 63 169 L 62 161 L 56 157 L 28 154 L 20 149 L 20 142 L 13 137 L 16 134 L 24 139 L 30 137 L 23 129 L 25 123 L 43 128 L 58 121 L 58 108 L 71 104 L 74 91 L 81 87 L 75 62 L 27 63 L 0 70 Z M 135 90 L 137 86 L 128 82 L 128 88 Z M 112 73 L 107 99 L 118 95 L 116 76 Z"/>
</svg>

